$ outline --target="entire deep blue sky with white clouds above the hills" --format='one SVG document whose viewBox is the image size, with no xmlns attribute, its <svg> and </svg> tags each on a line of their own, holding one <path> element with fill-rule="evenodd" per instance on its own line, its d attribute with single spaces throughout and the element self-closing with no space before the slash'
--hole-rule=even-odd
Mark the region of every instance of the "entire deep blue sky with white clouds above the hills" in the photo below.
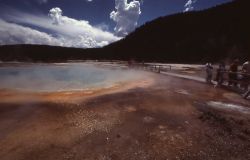
<svg viewBox="0 0 250 160">
<path fill-rule="evenodd" d="M 0 44 L 102 47 L 159 16 L 231 0 L 0 0 Z"/>
</svg>

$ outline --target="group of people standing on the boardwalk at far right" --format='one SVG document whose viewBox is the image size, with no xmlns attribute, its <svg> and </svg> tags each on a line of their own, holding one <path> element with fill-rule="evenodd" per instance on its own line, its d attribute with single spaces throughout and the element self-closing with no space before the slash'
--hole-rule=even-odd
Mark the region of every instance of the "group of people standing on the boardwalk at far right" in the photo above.
<svg viewBox="0 0 250 160">
<path fill-rule="evenodd" d="M 212 84 L 212 78 L 213 78 L 213 66 L 211 63 L 206 64 L 206 81 L 207 83 Z M 234 60 L 229 70 L 226 69 L 226 65 L 224 62 L 221 62 L 219 64 L 219 67 L 217 68 L 217 73 L 215 77 L 215 81 L 217 82 L 217 86 L 220 86 L 225 81 L 225 73 L 228 74 L 228 85 L 236 87 L 238 84 L 242 89 L 245 90 L 245 93 L 243 94 L 244 98 L 247 98 L 250 95 L 249 90 L 249 84 L 250 84 L 250 60 L 246 61 L 243 65 L 241 70 L 239 70 L 239 60 Z"/>
</svg>

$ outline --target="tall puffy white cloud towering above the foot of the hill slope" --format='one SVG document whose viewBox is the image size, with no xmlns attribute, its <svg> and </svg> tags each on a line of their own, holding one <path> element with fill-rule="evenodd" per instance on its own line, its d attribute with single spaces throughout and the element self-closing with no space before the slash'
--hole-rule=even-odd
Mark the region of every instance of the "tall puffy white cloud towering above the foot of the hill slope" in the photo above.
<svg viewBox="0 0 250 160">
<path fill-rule="evenodd" d="M 118 36 L 126 36 L 137 26 L 141 15 L 140 2 L 133 0 L 115 0 L 115 11 L 110 13 L 110 18 L 116 22 L 115 32 Z"/>
</svg>

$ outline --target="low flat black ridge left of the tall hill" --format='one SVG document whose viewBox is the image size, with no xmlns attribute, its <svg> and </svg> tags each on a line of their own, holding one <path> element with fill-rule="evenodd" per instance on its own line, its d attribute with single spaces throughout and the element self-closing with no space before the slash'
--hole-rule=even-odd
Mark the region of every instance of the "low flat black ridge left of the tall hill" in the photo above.
<svg viewBox="0 0 250 160">
<path fill-rule="evenodd" d="M 65 60 L 100 59 L 99 49 L 80 49 L 46 45 L 5 45 L 0 47 L 2 61 L 61 62 Z"/>
</svg>

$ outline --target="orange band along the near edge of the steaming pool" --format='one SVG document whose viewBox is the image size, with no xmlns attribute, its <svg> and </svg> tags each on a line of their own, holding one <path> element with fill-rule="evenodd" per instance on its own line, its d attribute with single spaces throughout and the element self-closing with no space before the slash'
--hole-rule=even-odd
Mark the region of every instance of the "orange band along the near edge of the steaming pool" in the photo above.
<svg viewBox="0 0 250 160">
<path fill-rule="evenodd" d="M 152 75 L 153 73 L 147 73 Z M 113 94 L 117 92 L 124 92 L 129 89 L 137 87 L 149 87 L 154 84 L 154 79 L 149 78 L 142 80 L 129 80 L 126 82 L 117 82 L 111 86 L 94 89 L 83 90 L 68 90 L 68 91 L 49 91 L 49 92 L 33 92 L 22 90 L 0 90 L 0 103 L 41 103 L 41 102 L 56 102 L 56 103 L 79 103 L 83 100 L 98 97 L 105 94 Z"/>
</svg>

